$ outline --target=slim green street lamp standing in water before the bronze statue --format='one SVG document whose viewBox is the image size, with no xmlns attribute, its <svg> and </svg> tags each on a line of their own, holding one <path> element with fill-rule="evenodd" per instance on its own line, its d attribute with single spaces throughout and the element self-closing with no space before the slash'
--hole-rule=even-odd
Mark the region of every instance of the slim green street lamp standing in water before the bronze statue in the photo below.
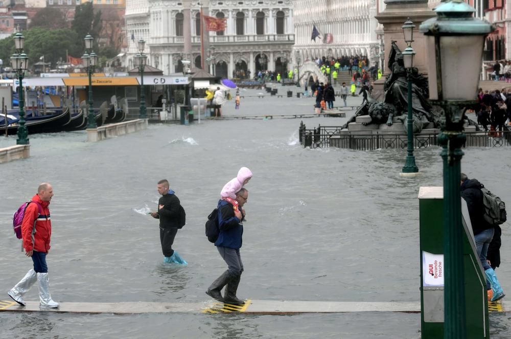
<svg viewBox="0 0 511 339">
<path fill-rule="evenodd" d="M 408 47 L 403 51 L 403 63 L 406 69 L 406 81 L 408 83 L 408 116 L 407 120 L 407 155 L 405 166 L 403 166 L 403 172 L 401 175 L 405 176 L 414 176 L 415 173 L 419 172 L 419 168 L 415 165 L 415 156 L 413 155 L 413 115 L 412 115 L 412 67 L 413 67 L 413 56 L 415 55 L 415 51 L 412 49 L 413 42 L 413 29 L 415 25 L 408 18 L 405 24 L 403 25 L 403 35 L 405 37 L 405 42 L 408 44 Z"/>
</svg>

